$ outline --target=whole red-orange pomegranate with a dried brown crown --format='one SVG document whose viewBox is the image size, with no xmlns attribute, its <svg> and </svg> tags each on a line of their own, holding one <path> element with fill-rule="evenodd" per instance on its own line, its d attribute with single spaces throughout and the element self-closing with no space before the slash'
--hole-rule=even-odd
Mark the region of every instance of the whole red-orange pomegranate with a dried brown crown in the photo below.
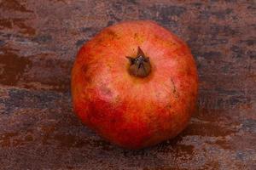
<svg viewBox="0 0 256 170">
<path fill-rule="evenodd" d="M 129 149 L 180 133 L 195 111 L 197 88 L 188 46 L 153 21 L 103 29 L 80 49 L 72 71 L 79 118 Z"/>
</svg>

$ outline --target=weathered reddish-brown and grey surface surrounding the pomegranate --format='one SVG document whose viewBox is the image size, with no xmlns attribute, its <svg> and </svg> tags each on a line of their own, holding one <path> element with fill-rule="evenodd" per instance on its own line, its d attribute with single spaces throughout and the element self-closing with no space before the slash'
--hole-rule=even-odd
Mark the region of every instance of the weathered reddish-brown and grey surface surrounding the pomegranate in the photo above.
<svg viewBox="0 0 256 170">
<path fill-rule="evenodd" d="M 0 169 L 256 169 L 255 1 L 0 0 Z M 155 20 L 189 43 L 199 111 L 145 150 L 105 142 L 73 115 L 79 47 L 122 20 Z"/>
</svg>

